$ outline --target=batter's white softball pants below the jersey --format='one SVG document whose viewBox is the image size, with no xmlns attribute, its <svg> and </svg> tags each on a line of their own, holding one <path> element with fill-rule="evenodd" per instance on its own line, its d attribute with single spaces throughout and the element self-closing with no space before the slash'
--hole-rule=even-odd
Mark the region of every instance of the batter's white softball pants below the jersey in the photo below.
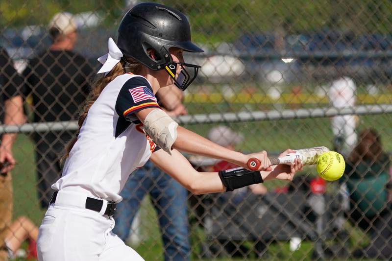
<svg viewBox="0 0 392 261">
<path fill-rule="evenodd" d="M 58 192 L 39 228 L 38 260 L 144 261 L 112 233 L 113 218 L 85 209 L 85 202 L 86 195 Z"/>
</svg>

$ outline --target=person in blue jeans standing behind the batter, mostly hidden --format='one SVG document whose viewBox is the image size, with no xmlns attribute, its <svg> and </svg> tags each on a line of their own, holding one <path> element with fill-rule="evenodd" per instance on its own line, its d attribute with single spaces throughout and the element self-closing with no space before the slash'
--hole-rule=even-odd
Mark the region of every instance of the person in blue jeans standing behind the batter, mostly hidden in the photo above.
<svg viewBox="0 0 392 261">
<path fill-rule="evenodd" d="M 181 102 L 183 92 L 176 86 L 161 88 L 156 95 L 160 106 L 171 117 L 187 113 Z M 123 201 L 117 204 L 114 233 L 123 241 L 128 239 L 132 222 L 146 194 L 150 195 L 158 216 L 164 260 L 190 260 L 188 191 L 151 161 L 132 173 L 121 191 Z"/>
</svg>

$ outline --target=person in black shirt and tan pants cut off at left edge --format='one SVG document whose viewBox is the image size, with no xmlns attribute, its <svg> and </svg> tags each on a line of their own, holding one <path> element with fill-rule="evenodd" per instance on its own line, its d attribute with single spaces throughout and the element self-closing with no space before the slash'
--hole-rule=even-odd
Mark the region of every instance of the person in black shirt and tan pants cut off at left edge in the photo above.
<svg viewBox="0 0 392 261">
<path fill-rule="evenodd" d="M 15 70 L 12 59 L 0 47 L 0 120 L 4 125 L 25 122 L 20 92 L 22 86 L 23 79 Z M 12 179 L 9 171 L 15 166 L 12 145 L 16 136 L 16 133 L 1 135 L 0 165 L 7 163 L 8 166 L 0 169 L 0 261 L 7 260 L 8 255 L 4 239 L 12 221 Z"/>
</svg>

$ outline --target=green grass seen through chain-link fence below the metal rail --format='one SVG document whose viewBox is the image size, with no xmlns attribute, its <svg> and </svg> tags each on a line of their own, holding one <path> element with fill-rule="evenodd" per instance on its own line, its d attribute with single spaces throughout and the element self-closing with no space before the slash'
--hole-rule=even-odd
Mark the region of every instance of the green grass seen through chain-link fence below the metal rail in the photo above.
<svg viewBox="0 0 392 261">
<path fill-rule="evenodd" d="M 203 109 L 205 104 L 200 105 Z M 190 113 L 202 113 L 199 111 L 201 107 L 197 104 L 189 106 Z M 228 111 L 228 105 L 220 108 Z M 375 115 L 375 116 L 361 116 L 359 129 L 365 127 L 374 127 L 381 134 L 383 138 L 384 147 L 386 150 L 392 150 L 392 128 L 390 127 L 391 115 Z M 212 124 L 205 125 L 190 125 L 190 129 L 196 131 L 201 135 L 206 135 Z M 241 122 L 230 123 L 236 131 L 244 133 L 245 140 L 238 146 L 238 149 L 243 151 L 282 151 L 287 147 L 303 148 L 315 145 L 332 146 L 333 135 L 330 129 L 329 119 L 290 119 L 290 120 L 276 120 L 276 121 L 258 121 L 258 122 Z M 40 210 L 37 200 L 37 192 L 35 188 L 36 176 L 33 155 L 33 143 L 25 135 L 19 135 L 15 146 L 14 155 L 17 159 L 17 165 L 12 171 L 14 184 L 14 217 L 20 215 L 28 216 L 35 224 L 40 224 L 44 215 L 44 211 Z M 314 171 L 309 168 L 309 171 Z M 268 183 L 269 187 L 282 185 L 283 182 Z M 143 203 L 143 222 L 142 231 L 145 235 L 144 240 L 134 248 L 147 260 L 162 260 L 163 249 L 160 239 L 160 233 L 157 225 L 155 211 L 153 210 L 149 200 L 146 199 Z M 361 242 L 365 235 L 355 228 L 350 228 L 351 245 L 354 247 Z M 204 239 L 203 232 L 197 228 L 192 228 L 192 251 L 193 260 L 199 260 L 200 242 Z M 363 242 L 362 242 L 363 243 Z M 250 242 L 247 242 L 250 244 Z M 313 251 L 312 242 L 303 242 L 298 251 L 290 252 L 289 244 L 287 242 L 278 242 L 269 247 L 270 260 L 310 260 L 311 252 Z M 18 261 L 22 261 L 19 259 Z M 228 258 L 217 259 L 220 261 L 233 260 Z M 252 259 L 249 259 L 252 260 Z"/>
</svg>

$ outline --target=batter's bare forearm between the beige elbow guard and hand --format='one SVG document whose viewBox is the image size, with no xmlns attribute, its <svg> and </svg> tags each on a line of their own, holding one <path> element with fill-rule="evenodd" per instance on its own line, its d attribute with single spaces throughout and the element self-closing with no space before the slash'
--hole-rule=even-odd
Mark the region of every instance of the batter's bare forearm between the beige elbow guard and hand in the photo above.
<svg viewBox="0 0 392 261">
<path fill-rule="evenodd" d="M 239 166 L 246 164 L 244 154 L 222 147 L 181 126 L 177 127 L 177 139 L 173 147 L 191 154 L 225 160 Z"/>
</svg>

